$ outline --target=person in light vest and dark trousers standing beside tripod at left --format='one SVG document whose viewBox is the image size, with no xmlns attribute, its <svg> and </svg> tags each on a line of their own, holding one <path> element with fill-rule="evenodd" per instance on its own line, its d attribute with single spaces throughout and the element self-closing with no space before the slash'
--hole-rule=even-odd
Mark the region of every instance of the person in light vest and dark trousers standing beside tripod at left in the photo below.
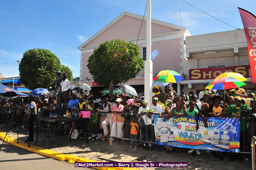
<svg viewBox="0 0 256 170">
<path fill-rule="evenodd" d="M 33 95 L 29 96 L 29 106 L 27 108 L 27 122 L 29 126 L 29 136 L 26 141 L 30 142 L 34 140 L 34 128 L 33 128 L 33 122 L 35 115 L 37 113 L 36 110 L 36 103 L 35 103 L 35 97 Z"/>
</svg>

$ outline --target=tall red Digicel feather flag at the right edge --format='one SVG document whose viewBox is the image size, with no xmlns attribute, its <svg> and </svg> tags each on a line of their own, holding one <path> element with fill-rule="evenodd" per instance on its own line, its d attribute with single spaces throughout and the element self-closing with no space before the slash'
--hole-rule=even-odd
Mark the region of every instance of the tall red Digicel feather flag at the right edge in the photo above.
<svg viewBox="0 0 256 170">
<path fill-rule="evenodd" d="M 256 83 L 256 17 L 242 8 L 238 10 L 245 29 L 252 83 Z"/>
</svg>

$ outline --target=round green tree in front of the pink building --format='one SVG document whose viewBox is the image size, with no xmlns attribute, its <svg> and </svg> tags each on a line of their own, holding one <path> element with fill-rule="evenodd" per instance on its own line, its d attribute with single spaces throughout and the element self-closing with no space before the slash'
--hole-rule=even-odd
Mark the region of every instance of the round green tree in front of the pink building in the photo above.
<svg viewBox="0 0 256 170">
<path fill-rule="evenodd" d="M 144 68 L 139 55 L 139 46 L 132 41 L 126 43 L 121 39 L 112 39 L 94 49 L 87 67 L 97 84 L 109 85 L 109 96 L 112 98 L 113 85 L 135 78 Z"/>
</svg>

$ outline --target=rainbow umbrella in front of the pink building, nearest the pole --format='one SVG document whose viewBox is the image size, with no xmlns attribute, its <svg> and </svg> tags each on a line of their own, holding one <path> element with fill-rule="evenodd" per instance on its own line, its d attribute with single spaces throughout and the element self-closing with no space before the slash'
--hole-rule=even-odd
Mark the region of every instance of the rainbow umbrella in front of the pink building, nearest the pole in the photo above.
<svg viewBox="0 0 256 170">
<path fill-rule="evenodd" d="M 161 81 L 166 83 L 177 83 L 183 80 L 183 77 L 173 70 L 162 70 L 153 76 L 154 81 Z"/>
</svg>

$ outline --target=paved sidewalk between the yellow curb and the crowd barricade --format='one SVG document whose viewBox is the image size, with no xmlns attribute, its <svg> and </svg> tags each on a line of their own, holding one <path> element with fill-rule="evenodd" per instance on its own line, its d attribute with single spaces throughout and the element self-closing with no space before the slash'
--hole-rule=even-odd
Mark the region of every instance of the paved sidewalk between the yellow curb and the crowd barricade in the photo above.
<svg viewBox="0 0 256 170">
<path fill-rule="evenodd" d="M 2 130 L 6 132 L 8 126 L 3 126 Z M 26 130 L 28 133 L 28 130 Z M 8 135 L 17 139 L 17 128 L 11 127 Z M 39 146 L 41 148 L 48 148 L 48 134 L 42 130 L 38 134 L 38 143 L 36 143 L 36 132 L 34 131 L 34 141 L 31 145 Z M 19 140 L 25 141 L 25 132 L 19 130 Z M 175 152 L 168 154 L 165 151 L 157 152 L 145 151 L 145 149 L 138 148 L 134 152 L 134 148 L 126 146 L 127 141 L 119 144 L 113 142 L 109 145 L 107 141 L 100 141 L 96 139 L 94 141 L 89 140 L 89 144 L 86 144 L 86 138 L 83 139 L 71 139 L 64 135 L 58 135 L 55 133 L 51 138 L 52 148 L 51 151 L 60 152 L 62 154 L 71 154 L 76 157 L 86 158 L 93 161 L 100 162 L 188 162 L 188 168 L 176 168 L 176 169 L 251 169 L 251 160 L 244 161 L 244 163 L 238 163 L 238 161 L 228 161 L 224 157 L 223 161 L 218 158 L 214 158 L 213 155 L 196 155 L 190 156 L 191 153 L 184 153 L 183 155 L 176 154 Z M 153 169 L 149 167 L 139 167 L 139 169 L 147 170 Z M 155 169 L 169 169 L 169 168 L 155 168 Z"/>
</svg>

